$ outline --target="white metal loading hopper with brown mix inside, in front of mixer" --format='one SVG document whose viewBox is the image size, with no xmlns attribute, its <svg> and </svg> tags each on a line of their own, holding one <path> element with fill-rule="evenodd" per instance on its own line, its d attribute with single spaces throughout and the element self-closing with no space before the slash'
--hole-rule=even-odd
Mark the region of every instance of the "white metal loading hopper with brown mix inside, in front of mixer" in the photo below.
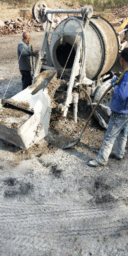
<svg viewBox="0 0 128 256">
<path fill-rule="evenodd" d="M 45 70 L 34 84 L 13 97 L 0 99 L 0 138 L 28 148 L 48 133 L 56 71 Z"/>
</svg>

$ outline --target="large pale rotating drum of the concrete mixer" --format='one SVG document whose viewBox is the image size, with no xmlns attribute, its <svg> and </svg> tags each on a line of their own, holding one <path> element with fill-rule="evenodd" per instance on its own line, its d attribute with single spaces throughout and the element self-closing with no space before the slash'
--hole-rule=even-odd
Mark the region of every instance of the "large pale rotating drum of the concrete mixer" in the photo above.
<svg viewBox="0 0 128 256">
<path fill-rule="evenodd" d="M 82 17 L 78 17 L 82 21 Z M 62 43 L 61 29 L 65 20 L 54 29 L 50 40 L 50 54 L 53 66 L 63 68 L 74 43 L 79 24 L 75 20 L 69 20 L 64 26 Z M 83 21 L 83 27 L 85 21 Z M 75 33 L 75 35 L 73 34 Z M 66 67 L 71 70 L 80 35 L 77 36 Z M 81 49 L 82 52 L 82 49 Z M 113 66 L 118 53 L 118 38 L 112 25 L 102 17 L 93 15 L 90 18 L 86 32 L 86 76 L 95 79 L 99 73 L 107 73 Z"/>
</svg>

